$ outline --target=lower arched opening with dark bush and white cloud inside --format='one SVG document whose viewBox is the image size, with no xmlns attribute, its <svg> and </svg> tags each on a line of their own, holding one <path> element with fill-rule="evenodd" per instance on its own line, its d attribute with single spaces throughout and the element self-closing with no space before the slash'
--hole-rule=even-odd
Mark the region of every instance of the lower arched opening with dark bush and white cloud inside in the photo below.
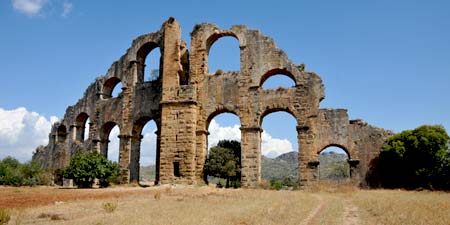
<svg viewBox="0 0 450 225">
<path fill-rule="evenodd" d="M 209 135 L 207 159 L 205 162 L 205 181 L 220 187 L 239 187 L 241 178 L 240 119 L 233 113 L 221 112 L 210 116 L 207 122 Z M 226 148 L 226 150 L 219 148 Z M 217 171 L 211 172 L 209 169 L 211 166 L 221 165 L 224 167 L 227 163 L 226 161 L 219 162 L 217 160 L 219 154 L 224 155 L 226 161 L 230 162 L 228 171 L 230 172 L 229 174 L 233 175 L 221 177 L 219 173 L 216 173 Z M 208 173 L 208 171 L 210 172 Z"/>
</svg>

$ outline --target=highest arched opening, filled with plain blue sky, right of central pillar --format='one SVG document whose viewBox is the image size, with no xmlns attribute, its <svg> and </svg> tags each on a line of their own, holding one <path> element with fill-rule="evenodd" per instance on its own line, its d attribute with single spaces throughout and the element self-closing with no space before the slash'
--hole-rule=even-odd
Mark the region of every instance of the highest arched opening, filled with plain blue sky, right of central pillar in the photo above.
<svg viewBox="0 0 450 225">
<path fill-rule="evenodd" d="M 234 36 L 213 36 L 208 40 L 208 74 L 240 71 L 239 40 Z"/>
</svg>

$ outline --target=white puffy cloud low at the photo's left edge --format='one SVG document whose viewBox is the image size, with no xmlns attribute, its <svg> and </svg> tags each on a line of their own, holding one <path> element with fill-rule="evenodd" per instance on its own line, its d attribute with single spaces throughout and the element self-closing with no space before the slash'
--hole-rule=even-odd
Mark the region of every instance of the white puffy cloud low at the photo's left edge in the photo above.
<svg viewBox="0 0 450 225">
<path fill-rule="evenodd" d="M 22 162 L 31 160 L 36 147 L 48 143 L 51 126 L 58 118 L 46 118 L 24 107 L 0 108 L 0 159 L 12 156 Z"/>
</svg>

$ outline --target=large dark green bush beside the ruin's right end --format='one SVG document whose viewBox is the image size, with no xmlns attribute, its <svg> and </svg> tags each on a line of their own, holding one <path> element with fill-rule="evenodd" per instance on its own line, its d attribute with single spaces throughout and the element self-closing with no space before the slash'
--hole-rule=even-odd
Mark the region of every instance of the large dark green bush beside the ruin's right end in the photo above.
<svg viewBox="0 0 450 225">
<path fill-rule="evenodd" d="M 391 137 L 380 154 L 384 186 L 450 189 L 449 136 L 442 126 L 420 126 Z"/>
</svg>

